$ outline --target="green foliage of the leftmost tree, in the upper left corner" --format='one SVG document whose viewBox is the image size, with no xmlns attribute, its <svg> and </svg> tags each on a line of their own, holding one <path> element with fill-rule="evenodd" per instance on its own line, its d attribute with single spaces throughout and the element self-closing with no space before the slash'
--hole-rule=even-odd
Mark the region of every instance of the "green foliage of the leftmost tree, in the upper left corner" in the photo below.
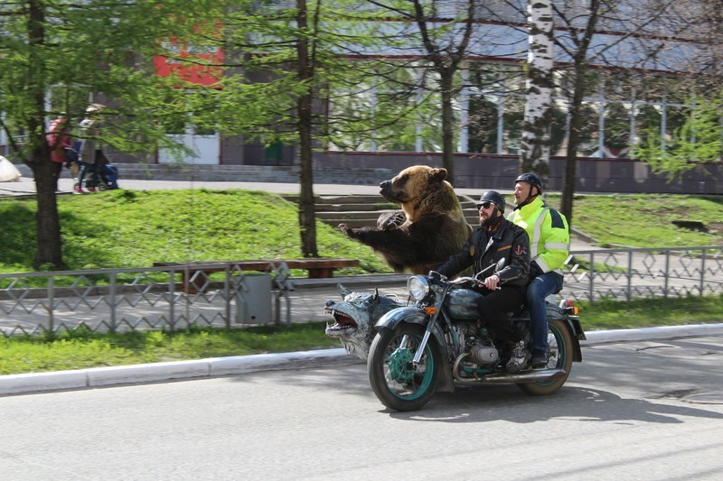
<svg viewBox="0 0 723 481">
<path fill-rule="evenodd" d="M 103 113 L 113 120 L 102 134 L 106 143 L 144 153 L 149 143 L 167 142 L 159 117 L 185 115 L 185 100 L 203 88 L 187 92 L 178 88 L 179 79 L 156 76 L 153 57 L 165 39 L 203 42 L 206 32 L 192 19 L 206 18 L 205 3 L 40 2 L 36 7 L 42 17 L 35 18 L 42 21 L 33 31 L 27 28 L 32 9 L 24 3 L 5 5 L 0 15 L 0 111 L 6 134 L 23 148 L 23 162 L 40 161 L 31 153 L 44 143 L 46 116 L 65 113 L 77 125 L 89 103 L 99 98 L 113 106 Z M 38 104 L 38 95 L 48 95 L 49 109 Z M 125 120 L 118 121 L 120 117 Z"/>
</svg>

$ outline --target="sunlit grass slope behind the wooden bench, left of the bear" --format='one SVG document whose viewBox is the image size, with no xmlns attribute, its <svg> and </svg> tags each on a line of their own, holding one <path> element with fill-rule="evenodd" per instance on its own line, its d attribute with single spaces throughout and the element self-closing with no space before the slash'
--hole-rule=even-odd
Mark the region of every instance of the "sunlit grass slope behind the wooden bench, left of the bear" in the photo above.
<svg viewBox="0 0 723 481">
<path fill-rule="evenodd" d="M 301 256 L 296 205 L 248 190 L 108 190 L 58 198 L 69 269 L 146 267 L 154 262 Z M 34 199 L 0 199 L 0 272 L 32 271 Z M 391 272 L 364 245 L 318 223 L 319 255 L 360 259 L 347 272 Z"/>
</svg>

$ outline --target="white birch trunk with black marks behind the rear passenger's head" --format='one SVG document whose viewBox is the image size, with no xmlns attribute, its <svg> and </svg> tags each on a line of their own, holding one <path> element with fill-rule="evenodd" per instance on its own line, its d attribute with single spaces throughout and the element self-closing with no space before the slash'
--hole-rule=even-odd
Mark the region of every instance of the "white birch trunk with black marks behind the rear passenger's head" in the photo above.
<svg viewBox="0 0 723 481">
<path fill-rule="evenodd" d="M 530 51 L 527 101 L 521 139 L 521 171 L 533 171 L 546 179 L 549 172 L 552 119 L 552 5 L 549 0 L 528 4 Z"/>
</svg>

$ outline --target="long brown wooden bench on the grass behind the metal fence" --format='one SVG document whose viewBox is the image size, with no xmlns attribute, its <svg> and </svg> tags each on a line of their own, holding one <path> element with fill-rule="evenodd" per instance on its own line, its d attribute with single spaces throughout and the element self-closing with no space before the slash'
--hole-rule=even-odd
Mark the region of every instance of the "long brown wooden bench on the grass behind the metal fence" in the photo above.
<svg viewBox="0 0 723 481">
<path fill-rule="evenodd" d="M 285 264 L 288 269 L 304 269 L 309 279 L 325 279 L 333 277 L 336 269 L 358 267 L 359 259 L 330 259 L 313 257 L 308 259 L 273 259 L 258 261 L 193 261 L 187 263 L 154 263 L 154 267 L 175 267 L 183 275 L 183 291 L 195 294 L 208 282 L 210 273 L 221 273 L 239 268 L 241 271 L 258 271 L 268 273 Z"/>
</svg>

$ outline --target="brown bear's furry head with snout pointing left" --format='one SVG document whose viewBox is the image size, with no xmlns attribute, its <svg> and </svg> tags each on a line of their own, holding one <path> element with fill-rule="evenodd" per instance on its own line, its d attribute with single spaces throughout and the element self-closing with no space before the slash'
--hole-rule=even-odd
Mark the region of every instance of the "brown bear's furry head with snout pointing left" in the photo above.
<svg viewBox="0 0 723 481">
<path fill-rule="evenodd" d="M 393 179 L 381 182 L 380 194 L 384 199 L 399 204 L 408 220 L 414 220 L 420 211 L 450 207 L 457 209 L 455 204 L 459 202 L 452 186 L 445 179 L 446 169 L 413 165 L 400 171 Z M 443 205 L 433 207 L 432 201 L 441 201 Z"/>
</svg>

